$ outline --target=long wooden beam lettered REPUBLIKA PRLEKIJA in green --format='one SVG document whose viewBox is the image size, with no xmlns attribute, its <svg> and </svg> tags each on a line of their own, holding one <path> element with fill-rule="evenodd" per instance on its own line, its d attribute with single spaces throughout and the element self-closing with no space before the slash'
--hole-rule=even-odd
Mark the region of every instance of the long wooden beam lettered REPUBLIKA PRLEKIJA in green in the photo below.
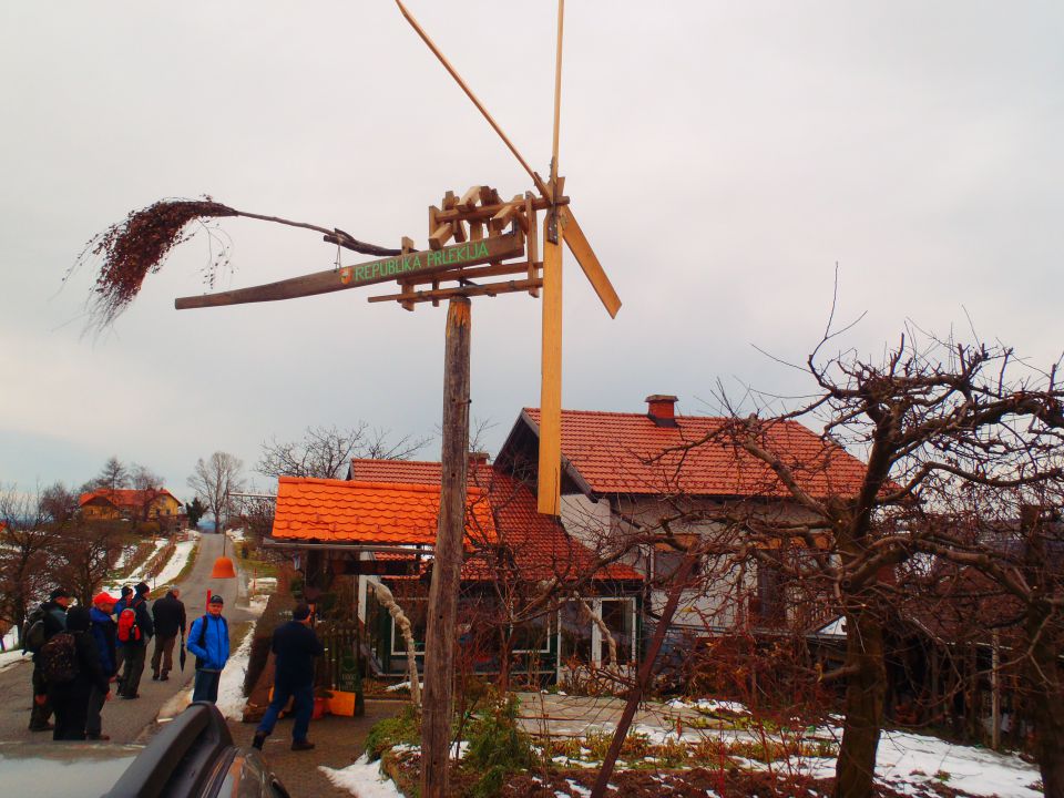
<svg viewBox="0 0 1064 798">
<path fill-rule="evenodd" d="M 509 233 L 503 236 L 484 238 L 479 242 L 454 244 L 439 250 L 421 250 L 402 256 L 380 258 L 356 266 L 328 269 L 315 274 L 291 277 L 277 283 L 238 288 L 218 294 L 181 297 L 174 301 L 178 310 L 201 307 L 224 307 L 257 301 L 275 301 L 296 297 L 315 296 L 330 291 L 358 288 L 378 283 L 390 283 L 403 277 L 453 272 L 459 266 L 505 260 L 524 254 L 524 236 Z"/>
</svg>

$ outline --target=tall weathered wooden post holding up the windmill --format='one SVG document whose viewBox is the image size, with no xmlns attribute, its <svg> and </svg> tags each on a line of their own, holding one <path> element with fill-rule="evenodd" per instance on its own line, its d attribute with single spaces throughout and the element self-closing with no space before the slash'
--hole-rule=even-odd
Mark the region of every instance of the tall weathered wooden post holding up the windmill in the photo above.
<svg viewBox="0 0 1064 798">
<path fill-rule="evenodd" d="M 466 469 L 469 463 L 470 301 L 450 299 L 443 359 L 443 450 L 440 518 L 429 587 L 424 640 L 424 696 L 421 717 L 421 796 L 448 798 L 451 690 L 454 681 L 458 590 L 466 526 Z"/>
</svg>

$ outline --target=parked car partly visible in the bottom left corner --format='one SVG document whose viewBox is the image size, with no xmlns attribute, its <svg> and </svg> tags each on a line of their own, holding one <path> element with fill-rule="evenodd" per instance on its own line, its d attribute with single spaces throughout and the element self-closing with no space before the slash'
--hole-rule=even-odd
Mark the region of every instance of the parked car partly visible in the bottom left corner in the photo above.
<svg viewBox="0 0 1064 798">
<path fill-rule="evenodd" d="M 34 798 L 288 798 L 258 751 L 236 746 L 206 702 L 146 746 L 0 744 L 0 785 L 4 795 Z"/>
</svg>

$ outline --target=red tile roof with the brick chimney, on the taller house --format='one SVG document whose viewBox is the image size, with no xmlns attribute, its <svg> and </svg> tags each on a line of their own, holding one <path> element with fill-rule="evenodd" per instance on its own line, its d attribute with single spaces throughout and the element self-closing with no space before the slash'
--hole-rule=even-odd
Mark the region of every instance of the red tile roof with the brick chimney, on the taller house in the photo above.
<svg viewBox="0 0 1064 798">
<path fill-rule="evenodd" d="M 540 411 L 524 417 L 539 432 Z M 562 411 L 562 454 L 595 493 L 686 493 L 716 497 L 787 497 L 764 462 L 722 437 L 648 462 L 662 452 L 719 432 L 728 422 L 708 416 L 677 416 L 675 427 L 658 427 L 641 413 Z M 767 446 L 796 473 L 812 495 L 852 495 L 864 466 L 838 444 L 797 421 L 767 428 Z"/>
</svg>

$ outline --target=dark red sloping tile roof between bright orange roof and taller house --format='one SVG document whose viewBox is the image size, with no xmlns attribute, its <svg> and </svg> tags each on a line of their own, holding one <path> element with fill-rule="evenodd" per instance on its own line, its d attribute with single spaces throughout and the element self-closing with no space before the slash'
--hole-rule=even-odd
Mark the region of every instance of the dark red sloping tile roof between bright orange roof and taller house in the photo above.
<svg viewBox="0 0 1064 798">
<path fill-rule="evenodd" d="M 405 479 L 426 485 L 440 482 L 438 462 L 416 460 L 351 461 L 351 470 L 360 482 L 388 483 Z M 513 552 L 523 579 L 540 581 L 559 576 L 573 580 L 584 576 L 594 565 L 594 555 L 569 535 L 562 525 L 535 509 L 535 495 L 522 482 L 487 463 L 469 468 L 470 490 L 484 491 L 494 510 L 498 539 Z M 487 579 L 494 569 L 504 566 L 487 559 L 467 561 L 463 579 Z M 642 580 L 628 565 L 611 563 L 598 570 L 597 579 Z"/>
</svg>

